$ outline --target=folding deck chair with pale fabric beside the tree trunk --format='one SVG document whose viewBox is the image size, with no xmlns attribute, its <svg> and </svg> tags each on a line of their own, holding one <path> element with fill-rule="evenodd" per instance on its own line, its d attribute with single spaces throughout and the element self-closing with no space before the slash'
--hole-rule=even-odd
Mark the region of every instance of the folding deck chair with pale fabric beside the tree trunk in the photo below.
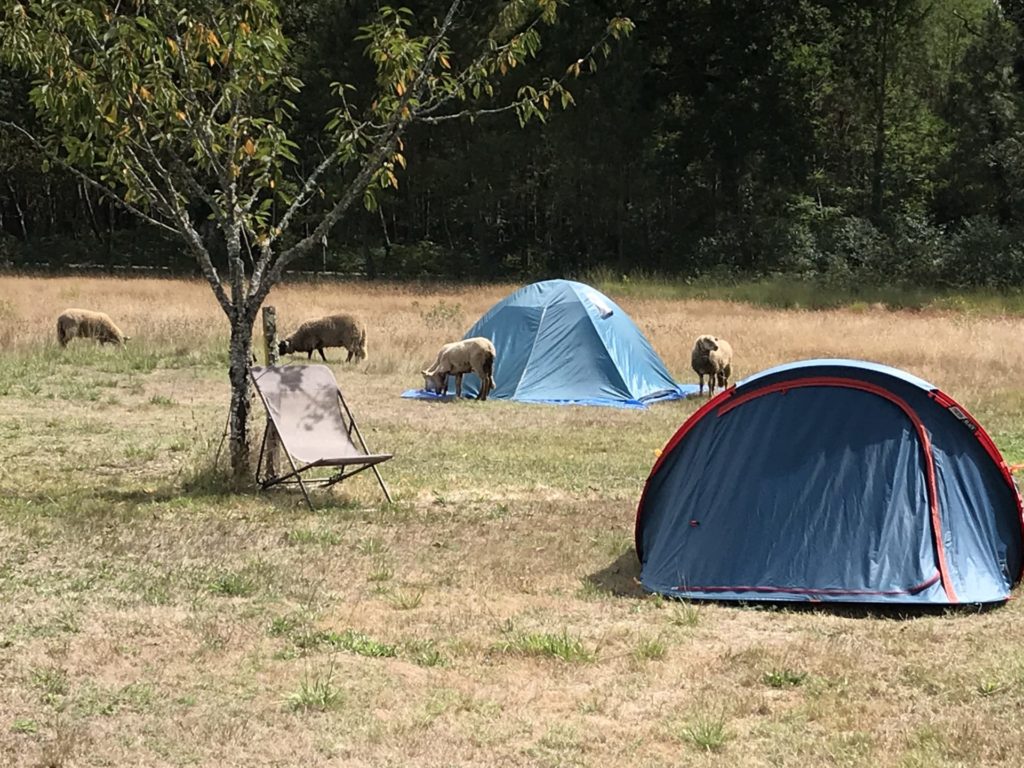
<svg viewBox="0 0 1024 768">
<path fill-rule="evenodd" d="M 307 484 L 327 487 L 372 469 L 385 498 L 391 501 L 377 465 L 392 455 L 370 453 L 331 369 L 327 366 L 254 367 L 250 375 L 268 417 L 256 464 L 256 482 L 261 488 L 297 483 L 311 510 L 313 505 Z M 267 451 L 271 429 L 276 432 L 288 457 L 290 472 L 287 468 L 284 473 L 274 470 Z M 353 434 L 358 445 L 352 441 Z M 327 477 L 307 475 L 303 480 L 303 473 L 318 467 L 336 471 Z"/>
</svg>

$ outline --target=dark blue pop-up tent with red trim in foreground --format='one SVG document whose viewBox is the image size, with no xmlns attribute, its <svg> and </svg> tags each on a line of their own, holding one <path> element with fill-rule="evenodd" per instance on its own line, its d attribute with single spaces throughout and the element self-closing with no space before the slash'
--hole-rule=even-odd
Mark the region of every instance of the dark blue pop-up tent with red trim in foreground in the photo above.
<svg viewBox="0 0 1024 768">
<path fill-rule="evenodd" d="M 1021 575 L 1021 498 L 936 387 L 808 360 L 683 424 L 647 479 L 636 547 L 643 586 L 676 597 L 996 602 Z"/>
</svg>

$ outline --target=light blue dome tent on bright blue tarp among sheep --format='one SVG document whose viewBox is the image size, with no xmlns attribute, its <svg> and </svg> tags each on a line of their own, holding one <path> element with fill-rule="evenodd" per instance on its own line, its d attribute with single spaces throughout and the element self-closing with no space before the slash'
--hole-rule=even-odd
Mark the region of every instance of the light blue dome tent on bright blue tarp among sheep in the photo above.
<svg viewBox="0 0 1024 768">
<path fill-rule="evenodd" d="M 483 336 L 497 350 L 489 398 L 575 406 L 646 408 L 695 392 L 681 385 L 640 329 L 595 288 L 549 280 L 520 288 L 487 311 L 464 338 Z M 479 379 L 467 374 L 463 396 Z M 413 389 L 403 397 L 450 397 Z"/>
</svg>

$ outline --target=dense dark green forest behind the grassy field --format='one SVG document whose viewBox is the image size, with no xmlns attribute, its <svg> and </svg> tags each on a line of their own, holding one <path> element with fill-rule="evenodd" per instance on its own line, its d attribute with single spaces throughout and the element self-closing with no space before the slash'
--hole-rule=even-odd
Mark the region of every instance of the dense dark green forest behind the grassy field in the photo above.
<svg viewBox="0 0 1024 768">
<path fill-rule="evenodd" d="M 446 7 L 409 5 L 419 18 Z M 452 49 L 494 34 L 483 25 L 501 5 L 474 3 Z M 305 84 L 288 118 L 296 178 L 327 151 L 324 127 L 337 109 L 329 84 L 374 90 L 380 68 L 356 38 L 376 7 L 282 4 L 289 77 Z M 495 95 L 508 102 L 561 77 L 618 12 L 635 34 L 597 77 L 573 83 L 565 113 L 525 129 L 512 115 L 412 126 L 397 186 L 349 210 L 294 266 L 371 276 L 604 267 L 834 285 L 1024 283 L 1020 0 L 580 0 L 561 9 L 530 76 L 509 73 Z M 35 119 L 28 89 L 0 71 L 0 120 Z M 0 260 L 195 263 L 44 168 L 0 133 Z M 344 179 L 325 181 L 328 199 L 331 183 Z M 315 221 L 300 214 L 296 225 Z"/>
</svg>

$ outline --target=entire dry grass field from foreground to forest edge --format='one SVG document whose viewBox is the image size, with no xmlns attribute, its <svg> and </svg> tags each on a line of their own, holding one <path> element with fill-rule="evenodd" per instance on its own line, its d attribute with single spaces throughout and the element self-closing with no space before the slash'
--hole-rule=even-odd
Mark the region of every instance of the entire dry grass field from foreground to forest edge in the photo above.
<svg viewBox="0 0 1024 768">
<path fill-rule="evenodd" d="M 394 505 L 366 473 L 310 513 L 209 469 L 227 327 L 205 284 L 0 276 L 0 765 L 1021 765 L 1020 600 L 900 615 L 638 590 L 636 501 L 695 402 L 398 397 L 512 288 L 273 292 L 285 330 L 367 321 L 365 362 L 328 356 L 395 454 Z M 703 332 L 740 377 L 887 362 L 1024 461 L 1020 317 L 621 303 L 682 381 Z M 69 306 L 110 312 L 128 348 L 61 350 Z"/>
</svg>

